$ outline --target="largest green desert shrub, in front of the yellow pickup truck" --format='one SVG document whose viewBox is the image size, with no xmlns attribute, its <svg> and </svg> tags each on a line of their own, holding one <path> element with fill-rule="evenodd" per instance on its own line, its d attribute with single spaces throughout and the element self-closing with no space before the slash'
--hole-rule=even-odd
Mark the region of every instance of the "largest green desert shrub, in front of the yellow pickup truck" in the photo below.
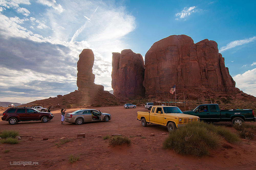
<svg viewBox="0 0 256 170">
<path fill-rule="evenodd" d="M 216 127 L 204 122 L 192 122 L 169 133 L 163 143 L 164 148 L 173 149 L 182 155 L 204 156 L 221 146 L 222 138 L 237 142 L 238 137 L 225 127 Z M 233 139 L 234 138 L 234 139 Z"/>
</svg>

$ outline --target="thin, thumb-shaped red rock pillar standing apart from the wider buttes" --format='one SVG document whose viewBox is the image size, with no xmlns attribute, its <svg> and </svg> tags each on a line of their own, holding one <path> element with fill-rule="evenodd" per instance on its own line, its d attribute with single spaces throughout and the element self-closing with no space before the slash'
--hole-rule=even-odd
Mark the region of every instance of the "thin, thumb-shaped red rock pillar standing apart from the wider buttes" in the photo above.
<svg viewBox="0 0 256 170">
<path fill-rule="evenodd" d="M 77 87 L 78 91 L 86 89 L 104 89 L 102 85 L 94 83 L 95 75 L 92 73 L 94 54 L 91 49 L 83 49 L 77 62 Z"/>
</svg>

